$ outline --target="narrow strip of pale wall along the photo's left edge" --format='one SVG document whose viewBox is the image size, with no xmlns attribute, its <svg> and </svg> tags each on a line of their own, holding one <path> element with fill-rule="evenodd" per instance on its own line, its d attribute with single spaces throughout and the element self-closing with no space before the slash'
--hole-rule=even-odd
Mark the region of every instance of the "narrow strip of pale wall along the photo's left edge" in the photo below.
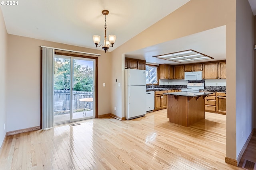
<svg viewBox="0 0 256 170">
<path fill-rule="evenodd" d="M 0 147 L 6 135 L 6 59 L 7 59 L 7 31 L 0 8 Z"/>
</svg>

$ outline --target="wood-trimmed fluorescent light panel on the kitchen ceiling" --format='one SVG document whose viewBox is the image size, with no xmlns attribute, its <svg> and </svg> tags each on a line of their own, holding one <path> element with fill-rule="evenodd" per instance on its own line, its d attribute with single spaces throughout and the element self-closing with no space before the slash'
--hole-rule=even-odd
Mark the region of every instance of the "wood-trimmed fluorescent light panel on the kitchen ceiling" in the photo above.
<svg viewBox="0 0 256 170">
<path fill-rule="evenodd" d="M 168 61 L 174 61 L 174 62 L 178 62 L 178 63 L 213 59 L 212 57 L 210 57 L 208 55 L 199 53 L 192 49 L 185 50 L 185 51 L 179 51 L 179 52 L 175 52 L 175 53 L 168 53 L 168 54 L 164 54 L 164 55 L 157 55 L 157 56 L 153 56 L 153 57 L 156 57 L 158 59 L 165 59 Z"/>
</svg>

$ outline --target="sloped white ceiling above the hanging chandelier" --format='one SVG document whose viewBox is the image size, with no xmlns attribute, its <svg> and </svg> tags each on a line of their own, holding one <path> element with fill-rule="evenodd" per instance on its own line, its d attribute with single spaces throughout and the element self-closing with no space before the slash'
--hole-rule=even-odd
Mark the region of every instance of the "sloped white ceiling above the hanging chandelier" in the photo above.
<svg viewBox="0 0 256 170">
<path fill-rule="evenodd" d="M 9 34 L 96 49 L 92 36 L 116 35 L 114 50 L 190 0 L 21 0 L 1 5 Z"/>
</svg>

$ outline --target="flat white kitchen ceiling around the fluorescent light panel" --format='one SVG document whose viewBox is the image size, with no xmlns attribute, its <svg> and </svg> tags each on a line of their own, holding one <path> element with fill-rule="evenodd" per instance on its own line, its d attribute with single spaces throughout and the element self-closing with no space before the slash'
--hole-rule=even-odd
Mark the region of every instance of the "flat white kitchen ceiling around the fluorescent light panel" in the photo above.
<svg viewBox="0 0 256 170">
<path fill-rule="evenodd" d="M 163 55 L 168 53 L 175 53 L 179 51 L 185 51 L 192 49 L 198 51 L 214 59 L 211 61 L 225 60 L 226 59 L 226 26 L 209 29 L 200 33 L 188 35 L 179 39 L 164 42 L 153 47 L 146 47 L 137 51 L 126 53 L 126 57 L 146 60 L 147 63 L 157 64 L 187 64 L 187 63 L 198 63 L 186 62 L 177 63 L 174 61 L 168 61 L 164 59 L 158 59 L 156 55 Z M 206 62 L 209 60 L 204 60 Z"/>
</svg>

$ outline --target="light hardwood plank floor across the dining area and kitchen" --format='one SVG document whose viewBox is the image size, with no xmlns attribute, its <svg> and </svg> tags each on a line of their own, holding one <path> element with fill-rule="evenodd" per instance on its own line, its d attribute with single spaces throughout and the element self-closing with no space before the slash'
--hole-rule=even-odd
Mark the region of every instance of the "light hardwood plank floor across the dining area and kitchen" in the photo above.
<svg viewBox="0 0 256 170">
<path fill-rule="evenodd" d="M 169 123 L 167 109 L 80 123 L 8 136 L 0 169 L 242 169 L 225 163 L 226 115 L 206 112 L 190 127 Z"/>
</svg>

